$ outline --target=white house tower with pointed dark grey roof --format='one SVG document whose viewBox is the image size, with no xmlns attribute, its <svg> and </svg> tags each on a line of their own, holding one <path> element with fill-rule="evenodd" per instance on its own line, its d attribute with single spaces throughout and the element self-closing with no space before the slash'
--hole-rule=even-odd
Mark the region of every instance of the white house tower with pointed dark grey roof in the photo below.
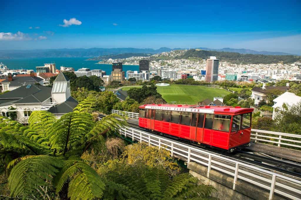
<svg viewBox="0 0 301 200">
<path fill-rule="evenodd" d="M 62 71 L 53 81 L 51 95 L 56 104 L 65 102 L 71 96 L 70 80 Z"/>
</svg>

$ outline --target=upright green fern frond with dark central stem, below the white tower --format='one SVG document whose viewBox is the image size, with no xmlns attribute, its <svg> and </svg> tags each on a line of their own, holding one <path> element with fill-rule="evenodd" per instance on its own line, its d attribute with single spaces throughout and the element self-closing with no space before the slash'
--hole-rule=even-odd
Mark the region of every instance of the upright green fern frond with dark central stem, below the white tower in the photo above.
<svg viewBox="0 0 301 200">
<path fill-rule="evenodd" d="M 54 122 L 47 133 L 52 149 L 63 152 L 78 149 L 85 143 L 86 134 L 94 127 L 92 115 L 88 113 L 68 113 Z"/>
</svg>

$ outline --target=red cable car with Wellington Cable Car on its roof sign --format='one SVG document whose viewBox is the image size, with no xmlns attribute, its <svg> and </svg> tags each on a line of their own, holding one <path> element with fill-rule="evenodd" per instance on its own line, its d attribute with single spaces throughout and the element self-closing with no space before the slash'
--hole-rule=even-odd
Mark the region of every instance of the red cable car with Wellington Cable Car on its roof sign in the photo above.
<svg viewBox="0 0 301 200">
<path fill-rule="evenodd" d="M 139 126 L 233 152 L 250 145 L 253 108 L 196 105 L 139 106 Z"/>
</svg>

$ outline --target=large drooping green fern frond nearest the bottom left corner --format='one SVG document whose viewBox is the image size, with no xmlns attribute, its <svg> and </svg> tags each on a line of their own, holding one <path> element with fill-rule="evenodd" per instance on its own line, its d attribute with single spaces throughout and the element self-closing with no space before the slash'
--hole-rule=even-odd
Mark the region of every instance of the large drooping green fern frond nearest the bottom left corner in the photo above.
<svg viewBox="0 0 301 200">
<path fill-rule="evenodd" d="M 8 186 L 11 196 L 26 196 L 52 181 L 63 162 L 51 156 L 34 156 L 19 162 L 11 170 L 8 177 Z"/>
</svg>

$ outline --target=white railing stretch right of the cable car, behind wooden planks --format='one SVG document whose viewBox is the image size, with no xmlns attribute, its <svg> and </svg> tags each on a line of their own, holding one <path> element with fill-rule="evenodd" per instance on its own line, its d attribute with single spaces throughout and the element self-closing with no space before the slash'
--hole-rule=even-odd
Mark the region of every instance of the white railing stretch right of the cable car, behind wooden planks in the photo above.
<svg viewBox="0 0 301 200">
<path fill-rule="evenodd" d="M 290 147 L 298 147 L 299 150 L 301 150 L 301 135 L 274 132 L 274 131 L 265 131 L 265 130 L 258 130 L 258 129 L 251 129 L 251 131 L 252 131 L 251 140 L 254 140 L 254 142 L 260 142 L 260 141 L 270 142 L 270 143 L 278 144 L 278 147 L 281 147 L 281 145 L 286 145 Z M 294 143 L 294 144 L 290 144 L 287 142 Z"/>
</svg>

